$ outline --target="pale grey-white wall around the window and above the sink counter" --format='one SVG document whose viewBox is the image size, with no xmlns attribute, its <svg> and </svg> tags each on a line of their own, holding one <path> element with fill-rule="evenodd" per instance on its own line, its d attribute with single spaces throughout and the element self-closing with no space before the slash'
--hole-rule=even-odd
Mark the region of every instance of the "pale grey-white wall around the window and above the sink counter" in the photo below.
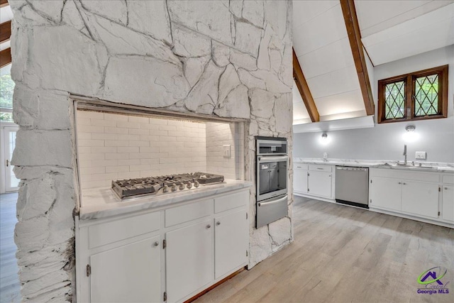
<svg viewBox="0 0 454 303">
<path fill-rule="evenodd" d="M 428 162 L 454 162 L 454 45 L 374 67 L 372 87 L 377 109 L 378 80 L 446 64 L 449 65 L 448 119 L 383 123 L 374 128 L 331 131 L 328 132 L 330 142 L 326 145 L 319 141 L 321 133 L 295 133 L 294 157 L 322 158 L 326 152 L 328 158 L 403 160 L 404 144 L 407 144 L 409 160 L 414 160 L 415 151 L 426 151 Z M 405 126 L 409 124 L 416 126 L 419 135 L 414 142 L 402 138 Z"/>
</svg>

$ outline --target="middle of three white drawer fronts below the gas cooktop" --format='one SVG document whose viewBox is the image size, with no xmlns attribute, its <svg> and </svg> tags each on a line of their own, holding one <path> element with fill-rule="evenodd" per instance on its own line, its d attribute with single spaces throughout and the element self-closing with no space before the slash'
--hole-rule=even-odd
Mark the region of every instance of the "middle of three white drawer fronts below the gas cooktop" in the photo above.
<svg viewBox="0 0 454 303">
<path fill-rule="evenodd" d="M 165 210 L 165 227 L 203 218 L 213 214 L 213 199 L 203 200 Z"/>
</svg>

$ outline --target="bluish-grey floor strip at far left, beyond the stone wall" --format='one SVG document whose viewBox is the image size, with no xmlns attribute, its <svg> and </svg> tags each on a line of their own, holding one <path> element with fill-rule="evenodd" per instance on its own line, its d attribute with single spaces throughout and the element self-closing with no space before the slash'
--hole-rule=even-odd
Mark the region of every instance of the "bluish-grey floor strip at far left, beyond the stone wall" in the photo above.
<svg viewBox="0 0 454 303">
<path fill-rule="evenodd" d="M 17 193 L 0 194 L 0 302 L 20 302 L 14 226 Z"/>
</svg>

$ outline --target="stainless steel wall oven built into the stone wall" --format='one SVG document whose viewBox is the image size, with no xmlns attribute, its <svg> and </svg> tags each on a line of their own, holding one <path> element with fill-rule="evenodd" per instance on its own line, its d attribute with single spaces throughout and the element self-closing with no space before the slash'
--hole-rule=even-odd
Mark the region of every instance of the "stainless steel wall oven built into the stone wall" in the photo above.
<svg viewBox="0 0 454 303">
<path fill-rule="evenodd" d="M 257 221 L 256 227 L 288 214 L 287 139 L 256 137 L 257 143 Z"/>
</svg>

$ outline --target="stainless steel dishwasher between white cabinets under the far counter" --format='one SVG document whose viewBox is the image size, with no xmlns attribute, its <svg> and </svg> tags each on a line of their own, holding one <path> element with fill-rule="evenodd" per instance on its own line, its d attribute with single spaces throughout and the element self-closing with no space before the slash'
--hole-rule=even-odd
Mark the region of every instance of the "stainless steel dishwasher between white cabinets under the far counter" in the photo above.
<svg viewBox="0 0 454 303">
<path fill-rule="evenodd" d="M 369 168 L 336 166 L 336 202 L 369 208 Z"/>
</svg>

